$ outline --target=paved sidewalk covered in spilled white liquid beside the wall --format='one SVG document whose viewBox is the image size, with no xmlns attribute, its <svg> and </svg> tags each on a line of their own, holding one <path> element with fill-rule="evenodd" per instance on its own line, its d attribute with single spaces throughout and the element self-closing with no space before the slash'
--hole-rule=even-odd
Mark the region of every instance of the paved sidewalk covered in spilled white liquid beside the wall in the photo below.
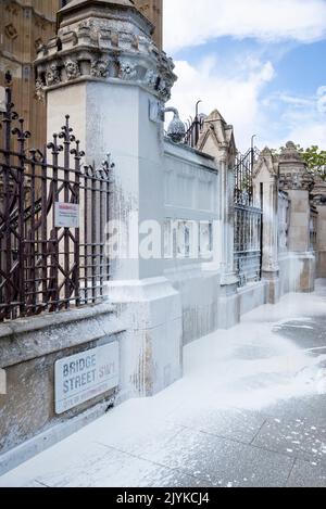
<svg viewBox="0 0 326 509">
<path fill-rule="evenodd" d="M 185 377 L 0 486 L 326 486 L 326 283 L 185 348 Z"/>
</svg>

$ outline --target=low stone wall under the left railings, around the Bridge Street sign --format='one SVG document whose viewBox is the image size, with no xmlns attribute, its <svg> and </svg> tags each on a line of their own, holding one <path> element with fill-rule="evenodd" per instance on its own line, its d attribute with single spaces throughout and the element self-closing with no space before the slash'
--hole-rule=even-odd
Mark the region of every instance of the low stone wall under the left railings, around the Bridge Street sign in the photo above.
<svg viewBox="0 0 326 509">
<path fill-rule="evenodd" d="M 54 364 L 112 341 L 121 344 L 123 332 L 112 306 L 106 304 L 0 325 L 0 368 L 7 376 L 7 394 L 0 395 L 0 472 L 15 461 L 4 453 L 36 437 L 29 449 L 20 455 L 22 460 L 28 457 L 28 450 L 33 454 L 41 448 L 37 443 L 40 433 L 51 430 L 55 434 L 53 427 L 112 400 L 114 394 L 110 391 L 55 415 Z M 51 436 L 43 435 L 42 441 L 45 446 L 51 444 Z"/>
</svg>

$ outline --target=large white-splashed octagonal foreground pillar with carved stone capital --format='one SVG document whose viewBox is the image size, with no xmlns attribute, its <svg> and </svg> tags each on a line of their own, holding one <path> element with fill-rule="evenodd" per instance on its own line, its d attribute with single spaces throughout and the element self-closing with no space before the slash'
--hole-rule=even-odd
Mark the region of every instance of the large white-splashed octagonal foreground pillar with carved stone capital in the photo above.
<svg viewBox="0 0 326 509">
<path fill-rule="evenodd" d="M 122 397 L 152 395 L 181 374 L 179 294 L 162 276 L 162 250 L 158 259 L 142 259 L 138 249 L 164 221 L 161 111 L 176 79 L 174 65 L 129 0 L 74 0 L 59 12 L 59 24 L 58 39 L 36 62 L 48 135 L 70 114 L 86 163 L 100 164 L 112 154 L 111 214 L 122 241 L 108 300 L 127 329 Z"/>
</svg>

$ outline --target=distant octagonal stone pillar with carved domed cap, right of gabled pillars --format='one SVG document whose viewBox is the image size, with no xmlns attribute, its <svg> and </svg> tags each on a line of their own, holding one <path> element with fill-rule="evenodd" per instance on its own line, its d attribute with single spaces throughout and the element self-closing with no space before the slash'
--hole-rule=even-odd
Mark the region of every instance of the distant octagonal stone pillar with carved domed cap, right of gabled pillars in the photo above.
<svg viewBox="0 0 326 509">
<path fill-rule="evenodd" d="M 291 201 L 289 252 L 292 255 L 290 290 L 311 292 L 314 290 L 315 255 L 311 251 L 310 191 L 314 179 L 293 142 L 288 142 L 279 156 L 279 189 L 286 191 Z"/>
</svg>

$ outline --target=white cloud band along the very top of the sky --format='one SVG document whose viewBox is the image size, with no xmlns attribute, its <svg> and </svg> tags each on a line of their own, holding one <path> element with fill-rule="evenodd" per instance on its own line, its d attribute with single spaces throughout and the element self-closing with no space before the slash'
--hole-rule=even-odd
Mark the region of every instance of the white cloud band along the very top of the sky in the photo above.
<svg viewBox="0 0 326 509">
<path fill-rule="evenodd" d="M 164 0 L 165 49 L 222 36 L 310 42 L 326 35 L 324 0 Z"/>
</svg>

